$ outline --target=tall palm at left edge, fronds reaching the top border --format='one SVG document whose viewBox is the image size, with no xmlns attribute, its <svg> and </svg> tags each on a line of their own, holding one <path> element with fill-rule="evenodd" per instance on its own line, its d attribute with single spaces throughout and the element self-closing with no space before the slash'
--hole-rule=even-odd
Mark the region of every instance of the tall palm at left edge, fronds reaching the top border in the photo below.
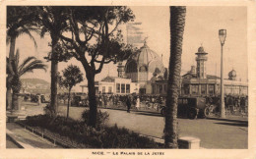
<svg viewBox="0 0 256 159">
<path fill-rule="evenodd" d="M 14 78 L 14 72 L 12 69 L 12 63 L 15 59 L 15 44 L 16 39 L 21 34 L 28 34 L 34 46 L 36 47 L 36 42 L 32 36 L 32 31 L 38 32 L 35 20 L 34 10 L 30 7 L 21 6 L 11 6 L 7 7 L 7 44 L 10 43 L 9 52 L 9 63 L 7 65 L 9 74 L 6 80 L 6 97 L 7 97 L 7 107 L 11 104 L 11 80 Z"/>
</svg>

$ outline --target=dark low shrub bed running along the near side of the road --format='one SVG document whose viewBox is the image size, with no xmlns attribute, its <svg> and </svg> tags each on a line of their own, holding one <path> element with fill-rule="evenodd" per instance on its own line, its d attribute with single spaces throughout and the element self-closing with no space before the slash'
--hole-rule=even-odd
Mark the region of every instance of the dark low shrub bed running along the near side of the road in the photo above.
<svg viewBox="0 0 256 159">
<path fill-rule="evenodd" d="M 140 136 L 136 132 L 130 132 L 125 128 L 119 129 L 116 125 L 103 126 L 102 123 L 108 119 L 108 114 L 101 112 L 98 114 L 101 120 L 100 129 L 89 127 L 84 122 L 66 120 L 65 117 L 53 119 L 47 115 L 28 117 L 25 124 L 56 132 L 78 145 L 87 145 L 87 148 L 160 148 L 154 140 Z"/>
</svg>

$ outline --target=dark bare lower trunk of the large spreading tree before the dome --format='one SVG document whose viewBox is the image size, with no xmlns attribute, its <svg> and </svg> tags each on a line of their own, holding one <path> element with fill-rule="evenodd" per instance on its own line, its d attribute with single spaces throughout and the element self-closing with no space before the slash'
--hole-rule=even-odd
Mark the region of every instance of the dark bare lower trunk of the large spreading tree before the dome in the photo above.
<svg viewBox="0 0 256 159">
<path fill-rule="evenodd" d="M 94 71 L 87 72 L 90 115 L 88 125 L 96 128 L 96 85 Z"/>
</svg>

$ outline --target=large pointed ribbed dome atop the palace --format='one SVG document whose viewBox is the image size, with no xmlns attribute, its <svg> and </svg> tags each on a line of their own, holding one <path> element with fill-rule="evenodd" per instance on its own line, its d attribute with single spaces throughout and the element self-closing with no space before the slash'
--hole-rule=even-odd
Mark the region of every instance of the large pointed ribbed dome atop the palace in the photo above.
<svg viewBox="0 0 256 159">
<path fill-rule="evenodd" d="M 148 71 L 150 73 L 163 72 L 164 68 L 160 60 L 160 56 L 151 50 L 145 42 L 136 53 L 131 55 L 126 63 L 126 73 L 134 73 L 141 70 Z"/>
</svg>

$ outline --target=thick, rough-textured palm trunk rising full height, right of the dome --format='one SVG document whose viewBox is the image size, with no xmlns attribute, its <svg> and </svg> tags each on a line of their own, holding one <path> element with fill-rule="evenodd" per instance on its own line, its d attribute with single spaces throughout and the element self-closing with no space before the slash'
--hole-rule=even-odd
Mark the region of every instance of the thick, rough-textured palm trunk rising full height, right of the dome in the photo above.
<svg viewBox="0 0 256 159">
<path fill-rule="evenodd" d="M 166 148 L 178 148 L 177 103 L 185 16 L 186 7 L 170 7 L 170 58 L 164 128 Z"/>
</svg>

